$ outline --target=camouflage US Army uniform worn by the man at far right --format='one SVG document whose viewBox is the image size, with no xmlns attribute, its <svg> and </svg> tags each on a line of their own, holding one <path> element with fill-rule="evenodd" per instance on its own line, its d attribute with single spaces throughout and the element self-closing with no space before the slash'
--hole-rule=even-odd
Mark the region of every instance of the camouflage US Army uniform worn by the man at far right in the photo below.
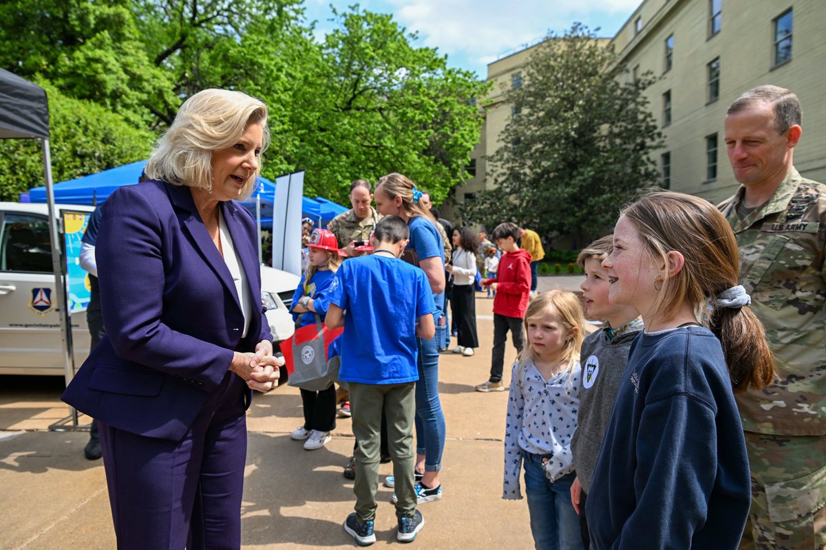
<svg viewBox="0 0 826 550">
<path fill-rule="evenodd" d="M 792 168 L 741 219 L 743 187 L 719 204 L 737 235 L 740 279 L 766 328 L 778 380 L 737 396 L 752 472 L 741 548 L 826 545 L 826 186 Z"/>
</svg>

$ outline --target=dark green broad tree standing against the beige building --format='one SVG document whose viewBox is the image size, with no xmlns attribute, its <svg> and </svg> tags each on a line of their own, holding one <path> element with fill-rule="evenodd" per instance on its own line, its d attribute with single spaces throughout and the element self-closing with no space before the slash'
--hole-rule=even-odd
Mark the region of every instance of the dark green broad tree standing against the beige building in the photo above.
<svg viewBox="0 0 826 550">
<path fill-rule="evenodd" d="M 584 26 L 548 35 L 523 86 L 506 92 L 514 115 L 488 164 L 497 187 L 464 203 L 463 219 L 591 238 L 610 230 L 636 190 L 657 185 L 650 153 L 662 134 L 643 95 L 653 78 L 620 83 L 615 59 Z"/>
</svg>

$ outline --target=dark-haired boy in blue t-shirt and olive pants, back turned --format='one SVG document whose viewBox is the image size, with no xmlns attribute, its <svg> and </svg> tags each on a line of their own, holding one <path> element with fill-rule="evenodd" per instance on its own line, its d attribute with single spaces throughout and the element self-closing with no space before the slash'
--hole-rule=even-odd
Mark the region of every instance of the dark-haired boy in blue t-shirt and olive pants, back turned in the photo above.
<svg viewBox="0 0 826 550">
<path fill-rule="evenodd" d="M 416 337 L 433 338 L 436 308 L 425 272 L 398 259 L 409 236 L 401 218 L 384 217 L 371 239 L 373 255 L 345 261 L 327 294 L 327 327 L 344 327 L 339 378 L 349 383 L 358 441 L 355 512 L 344 530 L 362 546 L 376 542 L 382 409 L 396 478 L 396 538 L 411 542 L 425 524 L 414 489 Z"/>
</svg>

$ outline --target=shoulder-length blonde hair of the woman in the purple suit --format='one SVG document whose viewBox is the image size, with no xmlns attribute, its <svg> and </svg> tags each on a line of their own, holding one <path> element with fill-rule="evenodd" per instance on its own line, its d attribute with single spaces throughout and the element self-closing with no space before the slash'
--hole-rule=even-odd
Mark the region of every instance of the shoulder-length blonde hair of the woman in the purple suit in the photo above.
<svg viewBox="0 0 826 550">
<path fill-rule="evenodd" d="M 247 127 L 263 129 L 261 153 L 269 146 L 267 106 L 243 92 L 215 88 L 197 92 L 178 109 L 169 129 L 158 140 L 146 164 L 146 175 L 176 186 L 212 189 L 212 153 L 230 148 Z M 259 157 L 260 159 L 260 157 Z M 240 199 L 252 195 L 261 162 L 244 183 Z"/>
</svg>

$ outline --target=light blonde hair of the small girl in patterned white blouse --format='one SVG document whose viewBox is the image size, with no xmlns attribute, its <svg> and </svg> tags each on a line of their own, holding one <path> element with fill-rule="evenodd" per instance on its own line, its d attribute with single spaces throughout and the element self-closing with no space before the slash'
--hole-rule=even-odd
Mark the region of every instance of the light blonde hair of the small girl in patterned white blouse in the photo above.
<svg viewBox="0 0 826 550">
<path fill-rule="evenodd" d="M 565 342 L 560 360 L 566 365 L 565 372 L 568 378 L 573 374 L 573 365 L 579 360 L 579 349 L 582 341 L 585 340 L 585 313 L 582 312 L 582 302 L 577 294 L 568 290 L 548 290 L 537 294 L 528 304 L 525 312 L 523 325 L 525 327 L 525 339 L 528 337 L 528 323 L 535 317 L 541 317 L 548 311 L 559 318 L 568 330 L 571 337 Z M 528 342 L 519 354 L 519 363 L 527 366 L 534 361 L 534 350 Z"/>
</svg>

